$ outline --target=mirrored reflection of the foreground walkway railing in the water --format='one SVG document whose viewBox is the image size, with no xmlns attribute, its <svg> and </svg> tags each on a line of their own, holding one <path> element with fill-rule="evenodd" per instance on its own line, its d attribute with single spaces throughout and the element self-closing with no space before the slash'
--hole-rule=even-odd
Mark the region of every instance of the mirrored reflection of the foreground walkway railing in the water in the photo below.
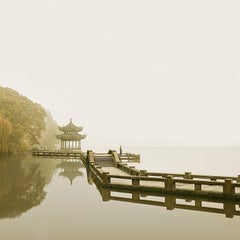
<svg viewBox="0 0 240 240">
<path fill-rule="evenodd" d="M 224 214 L 227 218 L 240 216 L 239 202 L 211 200 L 209 198 L 186 198 L 183 196 L 158 194 L 157 192 L 130 191 L 118 188 L 106 189 L 98 185 L 103 201 L 122 201 L 165 207 L 168 210 L 183 209 Z"/>
</svg>

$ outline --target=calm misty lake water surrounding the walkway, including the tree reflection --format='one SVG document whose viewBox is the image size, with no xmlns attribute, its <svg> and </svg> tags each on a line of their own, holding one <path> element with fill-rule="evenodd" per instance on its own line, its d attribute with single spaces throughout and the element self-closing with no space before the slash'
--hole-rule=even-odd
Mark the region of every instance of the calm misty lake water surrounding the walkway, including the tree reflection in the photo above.
<svg viewBox="0 0 240 240">
<path fill-rule="evenodd" d="M 140 169 L 240 174 L 240 149 L 124 150 L 141 154 L 141 163 L 135 164 Z M 61 159 L 29 155 L 0 160 L 0 239 L 226 240 L 239 239 L 239 226 L 236 215 L 103 201 L 81 163 L 69 167 Z"/>
</svg>

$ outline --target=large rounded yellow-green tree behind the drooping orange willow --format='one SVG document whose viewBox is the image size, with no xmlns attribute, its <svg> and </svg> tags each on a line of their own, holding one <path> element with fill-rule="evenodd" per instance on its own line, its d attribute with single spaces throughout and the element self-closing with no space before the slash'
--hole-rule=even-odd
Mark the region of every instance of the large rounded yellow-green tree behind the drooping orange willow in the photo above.
<svg viewBox="0 0 240 240">
<path fill-rule="evenodd" d="M 23 151 L 39 143 L 46 116 L 41 105 L 13 89 L 0 87 L 0 114 L 12 125 L 8 139 L 9 152 Z"/>
</svg>

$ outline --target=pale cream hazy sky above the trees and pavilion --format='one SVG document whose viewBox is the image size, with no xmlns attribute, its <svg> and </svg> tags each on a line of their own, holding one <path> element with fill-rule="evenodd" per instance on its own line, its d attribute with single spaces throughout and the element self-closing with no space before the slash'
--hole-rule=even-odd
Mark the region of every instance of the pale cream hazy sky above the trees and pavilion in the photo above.
<svg viewBox="0 0 240 240">
<path fill-rule="evenodd" d="M 87 146 L 240 146 L 240 1 L 1 0 L 0 85 Z"/>
</svg>

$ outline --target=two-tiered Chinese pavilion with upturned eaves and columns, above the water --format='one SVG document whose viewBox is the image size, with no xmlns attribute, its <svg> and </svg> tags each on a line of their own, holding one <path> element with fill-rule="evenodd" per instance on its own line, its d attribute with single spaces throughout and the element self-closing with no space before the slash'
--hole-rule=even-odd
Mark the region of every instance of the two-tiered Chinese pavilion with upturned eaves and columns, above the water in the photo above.
<svg viewBox="0 0 240 240">
<path fill-rule="evenodd" d="M 79 134 L 83 130 L 83 127 L 77 127 L 70 119 L 69 124 L 63 127 L 58 127 L 63 132 L 56 135 L 57 139 L 61 139 L 61 150 L 81 150 L 81 140 L 86 135 Z"/>
</svg>

